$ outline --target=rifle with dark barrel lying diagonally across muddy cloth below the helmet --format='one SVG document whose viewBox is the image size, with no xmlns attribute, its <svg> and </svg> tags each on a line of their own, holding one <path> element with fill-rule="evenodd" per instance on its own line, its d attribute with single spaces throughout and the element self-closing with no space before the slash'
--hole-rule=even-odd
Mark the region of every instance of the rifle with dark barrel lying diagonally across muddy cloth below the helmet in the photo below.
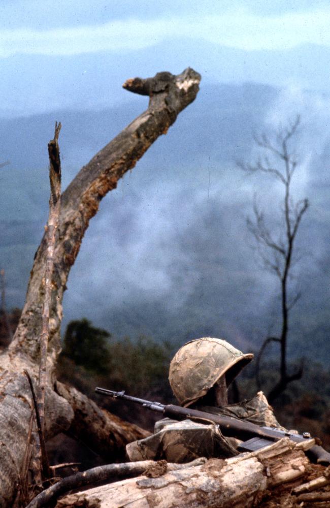
<svg viewBox="0 0 330 508">
<path fill-rule="evenodd" d="M 252 452 L 259 450 L 274 441 L 282 439 L 283 437 L 288 437 L 294 442 L 301 442 L 311 438 L 309 432 L 294 434 L 272 427 L 260 427 L 255 423 L 245 422 L 239 418 L 224 415 L 212 415 L 211 413 L 191 409 L 189 407 L 181 407 L 174 404 L 166 405 L 161 404 L 160 402 L 151 402 L 150 400 L 139 399 L 137 397 L 126 395 L 124 391 L 114 392 L 112 390 L 106 390 L 105 388 L 95 388 L 95 392 L 102 395 L 108 395 L 115 399 L 123 399 L 129 402 L 142 404 L 143 407 L 161 412 L 164 417 L 172 418 L 174 420 L 185 420 L 186 418 L 189 418 L 190 420 L 202 423 L 214 423 L 219 426 L 221 432 L 225 436 L 238 437 L 244 441 L 238 447 L 240 452 Z M 330 464 L 330 453 L 318 444 L 314 444 L 314 446 L 307 450 L 306 455 L 312 462 L 317 464 Z"/>
</svg>

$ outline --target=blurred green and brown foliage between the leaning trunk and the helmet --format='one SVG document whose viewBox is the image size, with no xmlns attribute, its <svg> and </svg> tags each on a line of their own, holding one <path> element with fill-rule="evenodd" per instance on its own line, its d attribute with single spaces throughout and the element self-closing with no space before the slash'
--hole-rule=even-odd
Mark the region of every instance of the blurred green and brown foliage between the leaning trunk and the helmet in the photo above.
<svg viewBox="0 0 330 508">
<path fill-rule="evenodd" d="M 92 396 L 95 386 L 146 396 L 166 392 L 173 347 L 140 336 L 114 339 L 82 319 L 69 323 L 58 361 L 58 377 Z M 169 393 L 168 393 L 169 392 Z"/>
</svg>

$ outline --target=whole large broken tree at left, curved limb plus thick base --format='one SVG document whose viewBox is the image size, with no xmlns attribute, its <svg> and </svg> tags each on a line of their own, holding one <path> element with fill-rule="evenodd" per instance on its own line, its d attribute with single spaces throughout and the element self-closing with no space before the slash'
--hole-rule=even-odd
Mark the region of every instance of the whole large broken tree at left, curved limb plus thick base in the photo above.
<svg viewBox="0 0 330 508">
<path fill-rule="evenodd" d="M 192 69 L 174 76 L 158 73 L 154 78 L 128 80 L 124 88 L 148 95 L 148 109 L 131 122 L 113 141 L 84 166 L 61 196 L 61 212 L 54 249 L 54 270 L 50 302 L 47 387 L 45 389 L 45 427 L 47 436 L 63 432 L 74 425 L 86 428 L 95 446 L 104 443 L 97 424 L 97 411 L 87 397 L 58 388 L 54 390 L 54 370 L 60 351 L 62 297 L 71 266 L 78 255 L 89 220 L 98 210 L 102 198 L 116 187 L 117 181 L 131 168 L 161 135 L 174 123 L 177 115 L 196 97 L 201 76 Z M 43 277 L 46 265 L 45 236 L 37 250 L 28 283 L 26 300 L 13 341 L 0 356 L 0 506 L 12 506 L 13 499 L 25 481 L 26 442 L 32 411 L 31 394 L 23 371 L 35 380 L 40 362 L 40 335 L 44 300 Z M 65 393 L 65 395 L 64 395 Z M 63 396 L 64 395 L 64 396 Z M 75 404 L 73 403 L 75 400 Z M 82 404 L 85 411 L 76 408 Z M 118 419 L 103 412 L 107 428 L 113 429 L 106 455 L 123 448 L 129 440 L 141 438 L 144 432 L 134 425 L 121 425 Z M 25 458 L 25 459 L 24 459 Z M 113 457 L 108 456 L 109 462 Z"/>
</svg>

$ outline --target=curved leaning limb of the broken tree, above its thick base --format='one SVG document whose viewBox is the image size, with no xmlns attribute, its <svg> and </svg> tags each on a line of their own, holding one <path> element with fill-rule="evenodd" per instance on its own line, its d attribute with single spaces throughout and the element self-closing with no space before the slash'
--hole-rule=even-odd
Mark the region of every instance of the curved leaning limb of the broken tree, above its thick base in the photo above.
<svg viewBox="0 0 330 508">
<path fill-rule="evenodd" d="M 140 90 L 140 93 L 141 90 L 148 91 L 148 109 L 98 152 L 62 194 L 50 309 L 49 347 L 54 358 L 59 351 L 59 324 L 65 284 L 89 220 L 97 212 L 102 198 L 116 188 L 118 180 L 134 168 L 150 145 L 161 134 L 166 134 L 180 111 L 195 99 L 200 80 L 201 76 L 190 68 L 177 76 L 158 73 L 147 80 L 128 80 L 125 84 L 127 90 Z M 42 299 L 39 295 L 42 293 L 46 248 L 44 237 L 36 253 L 26 303 L 11 345 L 13 353 L 24 353 L 32 360 L 39 356 L 36 336 L 41 330 Z"/>
</svg>

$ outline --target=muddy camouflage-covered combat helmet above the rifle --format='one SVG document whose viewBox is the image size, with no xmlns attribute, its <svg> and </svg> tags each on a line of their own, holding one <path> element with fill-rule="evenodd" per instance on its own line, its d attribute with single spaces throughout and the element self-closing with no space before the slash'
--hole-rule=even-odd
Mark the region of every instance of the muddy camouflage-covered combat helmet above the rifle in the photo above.
<svg viewBox="0 0 330 508">
<path fill-rule="evenodd" d="M 227 386 L 253 358 L 222 339 L 203 337 L 184 344 L 170 364 L 169 381 L 185 407 L 206 395 L 226 375 Z"/>
</svg>

